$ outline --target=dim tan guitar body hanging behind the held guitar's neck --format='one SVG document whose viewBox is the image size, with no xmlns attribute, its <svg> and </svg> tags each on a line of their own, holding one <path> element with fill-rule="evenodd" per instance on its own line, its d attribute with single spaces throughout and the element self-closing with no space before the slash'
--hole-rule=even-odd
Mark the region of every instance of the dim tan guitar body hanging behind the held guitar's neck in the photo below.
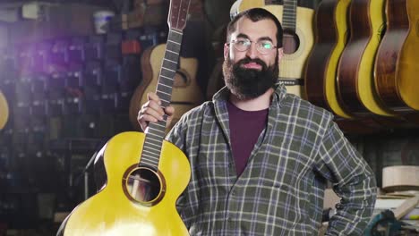
<svg viewBox="0 0 419 236">
<path fill-rule="evenodd" d="M 130 119 L 137 130 L 141 130 L 137 122 L 137 114 L 141 105 L 145 104 L 147 94 L 156 90 L 158 85 L 158 72 L 165 53 L 165 45 L 158 45 L 148 48 L 141 56 L 141 71 L 143 78 L 141 85 L 135 89 L 130 103 Z M 175 107 L 175 114 L 171 125 L 167 127 L 169 131 L 182 114 L 191 110 L 197 105 L 201 105 L 204 96 L 196 80 L 198 71 L 198 60 L 196 58 L 180 58 L 180 69 L 175 74 L 173 85 L 172 106 Z"/>
</svg>

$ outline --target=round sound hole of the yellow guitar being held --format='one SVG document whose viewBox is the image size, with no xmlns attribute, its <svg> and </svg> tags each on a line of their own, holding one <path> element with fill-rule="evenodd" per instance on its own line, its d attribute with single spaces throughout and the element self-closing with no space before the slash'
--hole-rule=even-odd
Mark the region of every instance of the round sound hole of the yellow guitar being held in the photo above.
<svg viewBox="0 0 419 236">
<path fill-rule="evenodd" d="M 153 205 L 161 198 L 162 183 L 158 173 L 148 168 L 138 168 L 128 175 L 126 190 L 130 197 L 145 205 Z"/>
</svg>

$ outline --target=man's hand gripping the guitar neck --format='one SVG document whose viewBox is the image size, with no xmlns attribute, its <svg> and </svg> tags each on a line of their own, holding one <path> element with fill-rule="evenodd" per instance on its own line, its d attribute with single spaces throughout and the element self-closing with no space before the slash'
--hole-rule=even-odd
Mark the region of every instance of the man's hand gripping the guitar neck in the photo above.
<svg viewBox="0 0 419 236">
<path fill-rule="evenodd" d="M 149 122 L 163 121 L 165 113 L 168 116 L 167 126 L 170 125 L 173 114 L 175 114 L 175 108 L 169 105 L 163 110 L 160 98 L 155 93 L 148 93 L 147 98 L 149 101 L 141 106 L 137 116 L 137 121 L 140 123 L 142 131 L 147 129 Z"/>
</svg>

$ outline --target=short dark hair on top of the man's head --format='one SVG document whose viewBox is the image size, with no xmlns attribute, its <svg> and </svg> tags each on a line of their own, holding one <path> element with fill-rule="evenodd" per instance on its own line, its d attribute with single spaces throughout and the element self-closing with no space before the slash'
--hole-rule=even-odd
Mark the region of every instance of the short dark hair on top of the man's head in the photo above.
<svg viewBox="0 0 419 236">
<path fill-rule="evenodd" d="M 242 13 L 238 13 L 235 18 L 233 18 L 233 20 L 231 20 L 227 25 L 227 41 L 230 40 L 230 35 L 235 31 L 235 23 L 243 17 L 250 19 L 253 22 L 261 20 L 274 21 L 275 25 L 277 26 L 277 46 L 282 47 L 283 32 L 281 23 L 278 21 L 278 18 L 274 14 L 269 13 L 268 10 L 263 8 L 251 8 Z"/>
</svg>

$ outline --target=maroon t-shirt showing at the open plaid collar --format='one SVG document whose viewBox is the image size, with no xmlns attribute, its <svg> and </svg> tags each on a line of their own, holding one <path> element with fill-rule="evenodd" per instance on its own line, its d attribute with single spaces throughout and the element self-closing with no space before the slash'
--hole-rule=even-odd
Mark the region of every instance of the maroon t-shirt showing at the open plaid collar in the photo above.
<svg viewBox="0 0 419 236">
<path fill-rule="evenodd" d="M 268 109 L 249 112 L 228 102 L 227 110 L 235 170 L 239 176 L 243 173 L 253 147 L 266 126 Z"/>
</svg>

